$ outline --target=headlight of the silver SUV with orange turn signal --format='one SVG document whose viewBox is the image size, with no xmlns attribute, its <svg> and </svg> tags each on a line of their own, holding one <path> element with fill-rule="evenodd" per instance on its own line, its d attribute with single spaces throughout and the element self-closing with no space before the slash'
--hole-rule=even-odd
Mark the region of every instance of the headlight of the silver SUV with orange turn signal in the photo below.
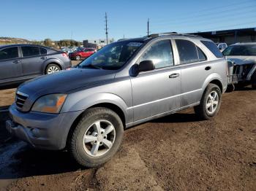
<svg viewBox="0 0 256 191">
<path fill-rule="evenodd" d="M 60 112 L 66 98 L 66 94 L 44 95 L 34 103 L 32 111 L 57 114 Z"/>
</svg>

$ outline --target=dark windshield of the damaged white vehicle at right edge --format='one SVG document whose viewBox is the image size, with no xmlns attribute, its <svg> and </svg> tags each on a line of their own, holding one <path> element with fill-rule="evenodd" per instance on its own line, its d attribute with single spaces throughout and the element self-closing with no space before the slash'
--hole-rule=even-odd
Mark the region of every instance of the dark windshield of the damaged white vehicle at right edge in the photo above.
<svg viewBox="0 0 256 191">
<path fill-rule="evenodd" d="M 222 53 L 223 55 L 256 55 L 256 44 L 230 46 Z"/>
</svg>

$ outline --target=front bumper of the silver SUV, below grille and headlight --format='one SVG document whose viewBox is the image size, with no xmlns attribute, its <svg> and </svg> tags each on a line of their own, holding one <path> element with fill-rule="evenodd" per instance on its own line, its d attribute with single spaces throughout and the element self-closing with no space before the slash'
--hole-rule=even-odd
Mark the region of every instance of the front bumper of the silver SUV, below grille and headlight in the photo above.
<svg viewBox="0 0 256 191">
<path fill-rule="evenodd" d="M 39 149 L 59 150 L 66 147 L 67 135 L 72 123 L 82 111 L 61 114 L 19 112 L 10 106 L 10 118 L 6 128 L 19 139 Z"/>
</svg>

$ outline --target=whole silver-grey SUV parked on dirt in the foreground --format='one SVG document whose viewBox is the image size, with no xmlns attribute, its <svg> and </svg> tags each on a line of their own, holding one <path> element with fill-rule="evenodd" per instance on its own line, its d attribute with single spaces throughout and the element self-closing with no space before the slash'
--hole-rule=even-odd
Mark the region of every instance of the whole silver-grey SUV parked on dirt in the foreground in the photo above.
<svg viewBox="0 0 256 191">
<path fill-rule="evenodd" d="M 219 112 L 227 61 L 200 36 L 159 34 L 103 47 L 74 69 L 18 87 L 7 130 L 33 147 L 69 149 L 86 167 L 110 160 L 124 129 L 195 108 Z"/>
</svg>

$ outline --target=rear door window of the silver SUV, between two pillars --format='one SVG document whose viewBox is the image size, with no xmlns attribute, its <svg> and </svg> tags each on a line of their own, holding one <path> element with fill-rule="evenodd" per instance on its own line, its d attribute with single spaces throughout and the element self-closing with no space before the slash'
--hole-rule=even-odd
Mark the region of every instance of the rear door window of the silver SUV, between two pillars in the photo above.
<svg viewBox="0 0 256 191">
<path fill-rule="evenodd" d="M 197 47 L 193 42 L 176 39 L 180 63 L 193 63 L 199 61 Z"/>
</svg>

